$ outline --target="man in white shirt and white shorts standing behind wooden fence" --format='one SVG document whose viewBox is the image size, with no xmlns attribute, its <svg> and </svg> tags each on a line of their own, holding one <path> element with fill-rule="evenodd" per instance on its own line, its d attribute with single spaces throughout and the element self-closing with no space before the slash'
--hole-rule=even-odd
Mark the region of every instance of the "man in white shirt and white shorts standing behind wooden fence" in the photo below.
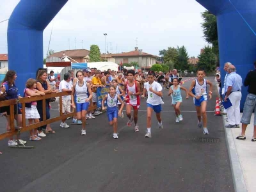
<svg viewBox="0 0 256 192">
<path fill-rule="evenodd" d="M 72 92 L 72 83 L 71 83 L 71 74 L 65 73 L 64 79 L 60 82 L 59 86 L 60 92 Z M 71 103 L 71 95 L 62 96 L 62 114 L 70 113 L 70 103 Z M 66 123 L 67 118 L 63 119 L 60 127 L 69 128 L 69 125 Z"/>
</svg>

